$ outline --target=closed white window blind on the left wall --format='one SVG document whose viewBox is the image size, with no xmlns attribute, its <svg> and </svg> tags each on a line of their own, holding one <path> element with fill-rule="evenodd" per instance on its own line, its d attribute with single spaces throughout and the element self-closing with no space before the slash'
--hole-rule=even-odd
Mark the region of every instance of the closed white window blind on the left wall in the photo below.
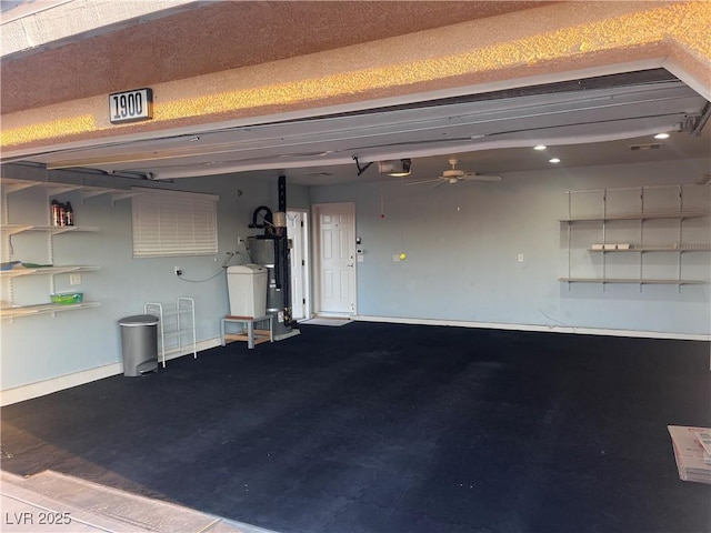
<svg viewBox="0 0 711 533">
<path fill-rule="evenodd" d="M 133 188 L 133 257 L 212 255 L 218 252 L 214 194 Z"/>
</svg>

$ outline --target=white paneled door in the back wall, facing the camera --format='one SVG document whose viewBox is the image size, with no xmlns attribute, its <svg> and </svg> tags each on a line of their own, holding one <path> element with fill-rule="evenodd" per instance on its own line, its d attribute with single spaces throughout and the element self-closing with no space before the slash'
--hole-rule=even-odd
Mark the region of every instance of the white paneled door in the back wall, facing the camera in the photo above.
<svg viewBox="0 0 711 533">
<path fill-rule="evenodd" d="M 356 314 L 356 205 L 314 207 L 318 235 L 318 312 Z"/>
</svg>

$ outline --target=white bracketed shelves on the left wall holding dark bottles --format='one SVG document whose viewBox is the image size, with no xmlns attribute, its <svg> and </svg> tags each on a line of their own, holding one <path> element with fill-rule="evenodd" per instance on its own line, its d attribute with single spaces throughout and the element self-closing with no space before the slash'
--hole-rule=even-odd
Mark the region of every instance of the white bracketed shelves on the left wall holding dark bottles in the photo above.
<svg viewBox="0 0 711 533">
<path fill-rule="evenodd" d="M 2 210 L 3 220 L 0 224 L 0 238 L 2 239 L 2 262 L 11 263 L 16 260 L 16 257 L 20 259 L 20 254 L 16 253 L 14 239 L 22 239 L 22 234 L 41 233 L 47 238 L 47 252 L 44 257 L 46 264 L 48 266 L 33 266 L 33 268 L 13 268 L 11 270 L 1 270 L 0 280 L 3 283 L 2 299 L 4 300 L 3 306 L 0 308 L 0 319 L 16 319 L 20 316 L 34 316 L 39 314 L 56 314 L 59 312 L 76 311 L 80 309 L 93 308 L 99 305 L 99 302 L 81 302 L 72 304 L 54 304 L 48 302 L 37 302 L 30 304 L 17 304 L 16 303 L 16 288 L 14 280 L 23 276 L 47 276 L 48 283 L 48 298 L 49 294 L 56 292 L 57 275 L 72 274 L 80 272 L 91 272 L 99 270 L 98 265 L 84 265 L 84 264 L 69 264 L 57 265 L 54 264 L 54 239 L 57 235 L 64 233 L 86 233 L 97 232 L 98 228 L 86 225 L 63 225 L 56 227 L 49 225 L 49 203 L 52 198 L 64 194 L 70 191 L 79 191 L 82 194 L 82 202 L 86 198 L 96 197 L 99 194 L 113 194 L 113 200 L 122 198 L 129 198 L 126 194 L 132 195 L 131 191 L 120 191 L 116 189 L 102 189 L 97 187 L 84 187 L 76 184 L 46 182 L 46 181 L 30 181 L 30 180 L 17 180 L 0 178 L 0 187 L 2 188 Z M 18 224 L 12 223 L 11 218 L 11 204 L 10 199 L 13 193 L 23 191 L 26 189 L 36 188 L 47 191 L 47 214 L 43 221 L 38 221 L 38 224 Z"/>
</svg>

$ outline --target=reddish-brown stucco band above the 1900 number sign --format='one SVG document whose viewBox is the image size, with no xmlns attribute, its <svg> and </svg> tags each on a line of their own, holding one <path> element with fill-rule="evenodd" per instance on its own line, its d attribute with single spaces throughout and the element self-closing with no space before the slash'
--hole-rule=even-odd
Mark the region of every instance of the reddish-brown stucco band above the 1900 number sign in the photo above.
<svg viewBox="0 0 711 533">
<path fill-rule="evenodd" d="M 121 10 L 124 3 L 114 1 L 114 9 Z M 4 56 L 0 112 L 307 56 L 547 3 L 551 2 L 197 1 L 167 10 L 160 18 L 156 13 L 124 20 Z M 64 18 L 71 17 L 69 12 L 48 23 L 66 23 Z"/>
</svg>

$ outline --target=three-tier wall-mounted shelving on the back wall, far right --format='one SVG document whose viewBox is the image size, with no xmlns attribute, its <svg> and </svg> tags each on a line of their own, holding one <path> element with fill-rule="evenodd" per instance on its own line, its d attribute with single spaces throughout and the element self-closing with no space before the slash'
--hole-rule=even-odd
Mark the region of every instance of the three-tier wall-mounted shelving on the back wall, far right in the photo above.
<svg viewBox="0 0 711 533">
<path fill-rule="evenodd" d="M 682 285 L 710 282 L 693 279 L 705 278 L 699 272 L 699 260 L 682 262 L 681 259 L 690 253 L 711 251 L 709 224 L 692 221 L 711 215 L 707 208 L 708 187 L 644 185 L 568 191 L 567 194 L 568 217 L 559 221 L 567 224 L 568 272 L 560 281 L 603 286 L 630 283 L 639 284 L 640 290 L 642 285 L 662 284 L 678 285 L 681 290 Z M 577 214 L 581 211 L 592 214 Z M 573 242 L 573 233 L 582 237 Z M 587 243 L 581 242 L 587 239 L 590 239 Z M 588 253 L 588 260 L 582 252 Z M 655 254 L 654 259 L 644 260 L 650 253 Z M 620 258 L 611 257 L 618 254 Z M 623 259 L 629 254 L 639 255 L 637 265 Z M 668 254 L 675 254 L 678 259 L 672 260 Z M 594 257 L 599 259 L 593 260 Z M 591 270 L 593 275 L 575 275 Z M 669 276 L 674 271 L 677 275 Z"/>
</svg>

